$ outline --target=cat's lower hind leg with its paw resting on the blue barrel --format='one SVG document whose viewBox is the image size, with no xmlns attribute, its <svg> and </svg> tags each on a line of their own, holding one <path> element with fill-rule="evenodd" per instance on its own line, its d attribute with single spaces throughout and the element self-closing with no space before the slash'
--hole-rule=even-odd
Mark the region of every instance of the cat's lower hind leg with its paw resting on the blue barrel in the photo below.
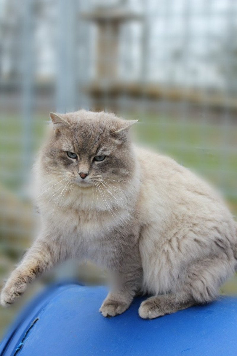
<svg viewBox="0 0 237 356">
<path fill-rule="evenodd" d="M 215 300 L 221 284 L 233 273 L 233 263 L 223 254 L 213 259 L 205 259 L 190 266 L 183 286 L 177 292 L 155 295 L 141 303 L 139 315 L 144 319 L 153 319 L 195 304 Z"/>
</svg>

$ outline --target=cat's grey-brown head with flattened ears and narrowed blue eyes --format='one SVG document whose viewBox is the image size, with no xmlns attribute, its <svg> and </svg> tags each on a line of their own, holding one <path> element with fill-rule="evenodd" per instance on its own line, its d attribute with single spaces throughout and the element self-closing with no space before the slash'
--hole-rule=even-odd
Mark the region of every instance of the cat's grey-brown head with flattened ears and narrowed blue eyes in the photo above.
<svg viewBox="0 0 237 356">
<path fill-rule="evenodd" d="M 54 131 L 43 151 L 47 173 L 84 188 L 131 177 L 134 158 L 128 130 L 134 121 L 85 110 L 50 117 Z"/>
</svg>

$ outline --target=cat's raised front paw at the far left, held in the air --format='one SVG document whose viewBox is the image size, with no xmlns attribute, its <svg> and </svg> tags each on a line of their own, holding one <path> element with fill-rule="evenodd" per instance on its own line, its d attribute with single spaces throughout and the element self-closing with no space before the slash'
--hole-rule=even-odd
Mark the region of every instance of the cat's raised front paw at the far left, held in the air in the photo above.
<svg viewBox="0 0 237 356">
<path fill-rule="evenodd" d="M 25 292 L 27 284 L 22 281 L 9 280 L 2 289 L 0 303 L 3 307 L 9 307 L 17 298 Z"/>
</svg>

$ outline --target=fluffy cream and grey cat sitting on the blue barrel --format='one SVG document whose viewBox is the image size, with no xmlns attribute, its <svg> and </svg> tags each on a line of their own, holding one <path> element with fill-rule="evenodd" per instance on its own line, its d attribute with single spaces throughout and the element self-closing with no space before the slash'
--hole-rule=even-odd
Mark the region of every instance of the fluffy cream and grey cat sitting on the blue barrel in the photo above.
<svg viewBox="0 0 237 356">
<path fill-rule="evenodd" d="M 173 159 L 133 145 L 136 121 L 85 110 L 50 117 L 35 166 L 42 231 L 1 304 L 75 257 L 112 273 L 103 316 L 125 312 L 137 293 L 151 295 L 139 308 L 145 319 L 216 299 L 237 267 L 237 224 L 219 195 Z"/>
</svg>

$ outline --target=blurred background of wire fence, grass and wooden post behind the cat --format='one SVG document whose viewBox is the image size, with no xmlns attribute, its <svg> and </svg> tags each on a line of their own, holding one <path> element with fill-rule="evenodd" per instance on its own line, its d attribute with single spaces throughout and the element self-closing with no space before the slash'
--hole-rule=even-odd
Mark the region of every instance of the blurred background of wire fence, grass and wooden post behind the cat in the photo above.
<svg viewBox="0 0 237 356">
<path fill-rule="evenodd" d="M 113 111 L 136 141 L 222 191 L 237 213 L 235 0 L 0 0 L 0 279 L 35 236 L 31 166 L 50 111 Z M 85 264 L 61 266 L 11 309 L 61 277 L 102 283 Z M 235 293 L 234 277 L 222 293 Z"/>
</svg>

